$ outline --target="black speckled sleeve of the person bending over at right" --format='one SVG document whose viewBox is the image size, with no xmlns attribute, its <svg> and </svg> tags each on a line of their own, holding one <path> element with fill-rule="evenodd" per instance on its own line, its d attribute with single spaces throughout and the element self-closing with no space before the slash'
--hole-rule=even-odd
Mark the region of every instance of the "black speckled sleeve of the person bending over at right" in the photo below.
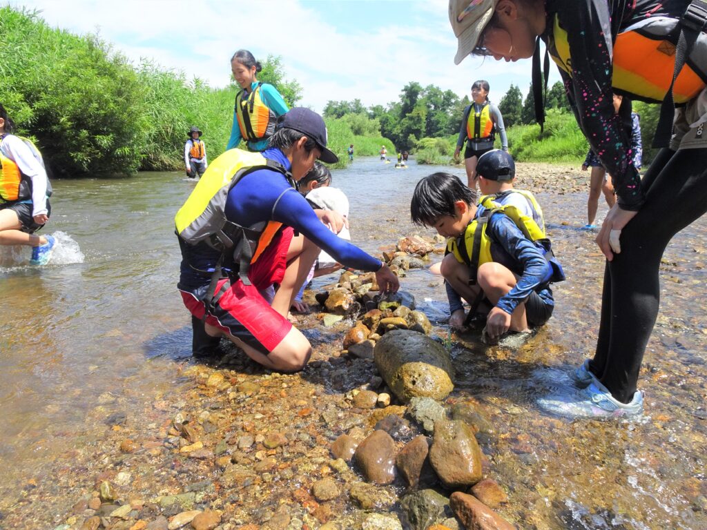
<svg viewBox="0 0 707 530">
<path fill-rule="evenodd" d="M 604 0 L 565 0 L 549 11 L 547 45 L 568 100 L 592 150 L 614 180 L 619 206 L 638 211 L 641 177 L 633 166 L 631 137 L 612 103 L 611 13 Z M 564 53 L 563 53 L 564 52 Z"/>
</svg>

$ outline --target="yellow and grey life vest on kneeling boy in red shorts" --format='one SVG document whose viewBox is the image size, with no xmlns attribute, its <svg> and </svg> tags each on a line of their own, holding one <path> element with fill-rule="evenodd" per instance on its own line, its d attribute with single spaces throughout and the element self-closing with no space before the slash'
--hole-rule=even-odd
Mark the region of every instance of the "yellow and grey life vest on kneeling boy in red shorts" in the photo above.
<svg viewBox="0 0 707 530">
<path fill-rule="evenodd" d="M 226 199 L 241 178 L 265 168 L 281 172 L 294 187 L 289 172 L 274 160 L 260 153 L 230 149 L 209 164 L 175 216 L 177 235 L 189 245 L 206 242 L 224 254 L 232 251 L 233 260 L 239 265 L 238 275 L 246 285 L 250 285 L 250 264 L 262 254 L 282 223 L 271 220 L 247 227 L 237 225 L 226 218 Z"/>
</svg>

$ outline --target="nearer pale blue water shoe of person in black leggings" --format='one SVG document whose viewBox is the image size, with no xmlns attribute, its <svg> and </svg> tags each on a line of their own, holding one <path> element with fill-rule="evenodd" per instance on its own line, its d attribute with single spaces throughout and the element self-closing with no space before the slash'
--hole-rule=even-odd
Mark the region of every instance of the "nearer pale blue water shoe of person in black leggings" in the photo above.
<svg viewBox="0 0 707 530">
<path fill-rule="evenodd" d="M 540 398 L 537 404 L 544 411 L 566 418 L 629 418 L 643 413 L 643 393 L 636 390 L 631 403 L 624 404 L 602 384 L 592 382 L 580 391 Z"/>
</svg>

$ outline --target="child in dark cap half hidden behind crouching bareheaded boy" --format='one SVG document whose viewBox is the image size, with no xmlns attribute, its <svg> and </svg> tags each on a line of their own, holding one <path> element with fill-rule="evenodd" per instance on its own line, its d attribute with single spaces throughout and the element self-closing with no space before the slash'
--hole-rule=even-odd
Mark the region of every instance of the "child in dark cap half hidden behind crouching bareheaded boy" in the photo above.
<svg viewBox="0 0 707 530">
<path fill-rule="evenodd" d="M 515 163 L 508 151 L 493 149 L 481 155 L 477 162 L 477 177 L 482 195 L 490 196 L 500 206 L 515 206 L 520 213 L 531 217 L 540 230 L 545 231 L 542 208 L 535 196 L 524 189 L 513 187 Z"/>
</svg>

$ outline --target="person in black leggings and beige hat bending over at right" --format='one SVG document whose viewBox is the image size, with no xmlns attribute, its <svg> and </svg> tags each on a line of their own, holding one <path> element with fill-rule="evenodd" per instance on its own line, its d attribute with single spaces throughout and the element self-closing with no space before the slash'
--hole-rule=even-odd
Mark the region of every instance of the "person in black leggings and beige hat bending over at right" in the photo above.
<svg viewBox="0 0 707 530">
<path fill-rule="evenodd" d="M 459 40 L 457 64 L 469 54 L 533 56 L 541 124 L 543 40 L 580 128 L 614 179 L 617 204 L 597 235 L 607 257 L 597 348 L 573 372 L 584 389 L 539 405 L 570 417 L 636 416 L 643 411 L 638 374 L 658 316 L 662 253 L 707 211 L 707 2 L 450 0 L 449 18 Z M 624 98 L 616 114 L 613 93 L 663 101 L 656 131 L 663 148 L 643 180 L 631 153 L 631 103 Z"/>
</svg>

